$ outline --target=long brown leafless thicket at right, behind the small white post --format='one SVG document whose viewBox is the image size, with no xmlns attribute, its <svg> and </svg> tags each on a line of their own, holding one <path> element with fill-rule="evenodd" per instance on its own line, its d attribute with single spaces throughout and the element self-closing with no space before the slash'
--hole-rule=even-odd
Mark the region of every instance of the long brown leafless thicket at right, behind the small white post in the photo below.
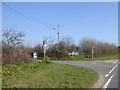
<svg viewBox="0 0 120 90">
<path fill-rule="evenodd" d="M 94 46 L 94 56 L 117 54 L 117 46 L 108 42 L 97 41 L 91 38 L 83 38 L 79 44 L 85 55 L 91 55 Z"/>
</svg>

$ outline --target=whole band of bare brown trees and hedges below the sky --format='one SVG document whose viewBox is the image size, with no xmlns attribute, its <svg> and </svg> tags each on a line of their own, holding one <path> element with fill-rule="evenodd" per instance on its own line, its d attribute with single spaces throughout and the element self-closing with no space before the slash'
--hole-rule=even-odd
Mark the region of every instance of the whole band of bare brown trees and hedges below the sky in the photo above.
<svg viewBox="0 0 120 90">
<path fill-rule="evenodd" d="M 26 47 L 22 44 L 24 36 L 24 33 L 12 29 L 3 31 L 3 64 L 31 62 L 31 52 L 37 52 L 38 57 L 43 57 L 42 45 L 36 45 L 34 48 Z M 53 39 L 49 39 L 47 45 L 46 55 L 52 59 L 69 57 L 68 53 L 71 52 L 79 52 L 80 55 L 91 57 L 92 49 L 94 49 L 94 57 L 118 54 L 118 47 L 116 45 L 91 38 L 82 39 L 78 46 L 74 44 L 74 40 L 71 37 L 62 38 L 59 42 L 59 47 L 57 43 L 54 43 Z"/>
</svg>

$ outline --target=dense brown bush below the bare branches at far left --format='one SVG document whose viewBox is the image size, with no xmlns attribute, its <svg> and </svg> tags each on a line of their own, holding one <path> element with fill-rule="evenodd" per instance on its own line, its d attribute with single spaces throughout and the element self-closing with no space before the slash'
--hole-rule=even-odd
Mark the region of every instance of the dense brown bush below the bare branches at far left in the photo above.
<svg viewBox="0 0 120 90">
<path fill-rule="evenodd" d="M 29 55 L 29 51 L 26 48 L 13 47 L 9 52 L 5 50 L 7 49 L 3 49 L 3 64 L 21 64 L 32 61 L 31 55 Z"/>
</svg>

